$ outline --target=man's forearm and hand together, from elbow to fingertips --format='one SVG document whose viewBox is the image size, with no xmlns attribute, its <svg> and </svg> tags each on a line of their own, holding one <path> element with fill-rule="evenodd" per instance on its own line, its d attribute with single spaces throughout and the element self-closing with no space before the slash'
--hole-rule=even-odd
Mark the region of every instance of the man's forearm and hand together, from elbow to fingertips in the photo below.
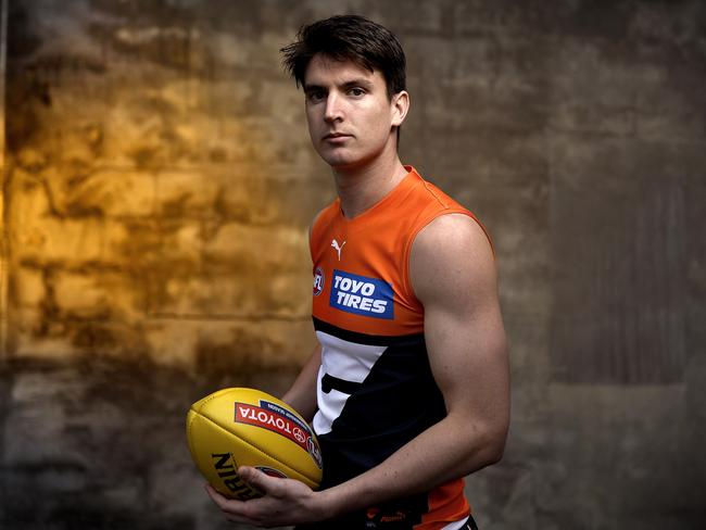
<svg viewBox="0 0 706 530">
<path fill-rule="evenodd" d="M 337 487 L 314 492 L 298 480 L 268 477 L 252 467 L 238 472 L 265 495 L 251 501 L 228 500 L 209 488 L 209 494 L 234 522 L 275 527 L 344 516 L 394 499 L 428 491 L 500 458 L 504 432 L 450 414 L 390 458 Z"/>
</svg>

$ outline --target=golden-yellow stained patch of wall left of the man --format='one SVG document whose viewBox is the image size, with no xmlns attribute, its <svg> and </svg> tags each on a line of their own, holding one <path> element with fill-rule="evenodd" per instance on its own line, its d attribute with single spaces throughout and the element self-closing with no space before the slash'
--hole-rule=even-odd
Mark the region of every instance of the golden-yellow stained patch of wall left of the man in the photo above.
<svg viewBox="0 0 706 530">
<path fill-rule="evenodd" d="M 307 223 L 330 192 L 303 121 L 250 109 L 250 81 L 139 61 L 42 83 L 51 104 L 10 116 L 35 127 L 10 153 L 10 354 L 305 358 Z M 302 105 L 287 79 L 259 83 Z"/>
</svg>

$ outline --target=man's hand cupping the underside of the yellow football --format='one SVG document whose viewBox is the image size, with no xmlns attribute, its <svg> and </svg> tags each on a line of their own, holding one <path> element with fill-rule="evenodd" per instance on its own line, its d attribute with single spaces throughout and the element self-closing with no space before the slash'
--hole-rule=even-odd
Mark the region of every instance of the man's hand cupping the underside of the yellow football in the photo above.
<svg viewBox="0 0 706 530">
<path fill-rule="evenodd" d="M 231 522 L 244 522 L 255 527 L 281 527 L 313 522 L 326 518 L 325 503 L 320 493 L 299 480 L 269 477 L 253 467 L 241 467 L 238 475 L 264 493 L 264 496 L 250 501 L 226 499 L 211 484 L 206 491 Z"/>
</svg>

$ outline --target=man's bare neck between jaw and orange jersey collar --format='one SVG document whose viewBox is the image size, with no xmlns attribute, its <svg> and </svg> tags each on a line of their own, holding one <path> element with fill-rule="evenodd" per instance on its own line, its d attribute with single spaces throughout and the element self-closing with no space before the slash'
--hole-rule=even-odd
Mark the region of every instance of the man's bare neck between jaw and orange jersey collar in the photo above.
<svg viewBox="0 0 706 530">
<path fill-rule="evenodd" d="M 377 159 L 360 168 L 333 168 L 336 189 L 343 215 L 352 219 L 362 214 L 399 185 L 407 171 L 394 156 Z"/>
</svg>

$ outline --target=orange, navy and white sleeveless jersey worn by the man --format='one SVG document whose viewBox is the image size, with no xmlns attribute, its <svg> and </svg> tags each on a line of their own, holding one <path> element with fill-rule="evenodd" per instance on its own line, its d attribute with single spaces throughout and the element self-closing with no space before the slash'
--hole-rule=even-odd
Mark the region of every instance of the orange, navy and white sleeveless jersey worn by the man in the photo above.
<svg viewBox="0 0 706 530">
<path fill-rule="evenodd" d="M 369 210 L 346 219 L 336 200 L 312 227 L 322 488 L 380 464 L 446 414 L 427 356 L 424 307 L 409 282 L 409 251 L 438 216 L 474 216 L 405 168 L 404 179 Z M 463 479 L 454 480 L 349 515 L 336 528 L 461 528 L 469 515 L 463 488 Z"/>
</svg>

